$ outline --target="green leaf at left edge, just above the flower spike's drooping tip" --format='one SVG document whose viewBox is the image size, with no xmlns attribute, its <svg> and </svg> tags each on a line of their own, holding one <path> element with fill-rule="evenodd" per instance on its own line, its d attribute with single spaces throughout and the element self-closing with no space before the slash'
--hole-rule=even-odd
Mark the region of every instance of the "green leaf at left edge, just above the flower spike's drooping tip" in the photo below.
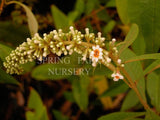
<svg viewBox="0 0 160 120">
<path fill-rule="evenodd" d="M 0 58 L 5 61 L 5 58 L 11 53 L 12 49 L 6 45 L 0 44 Z"/>
</svg>

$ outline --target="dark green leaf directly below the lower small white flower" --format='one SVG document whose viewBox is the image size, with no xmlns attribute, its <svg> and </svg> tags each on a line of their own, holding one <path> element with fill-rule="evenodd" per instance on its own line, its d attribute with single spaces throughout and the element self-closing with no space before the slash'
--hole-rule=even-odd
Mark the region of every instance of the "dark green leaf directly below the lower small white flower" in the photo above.
<svg viewBox="0 0 160 120">
<path fill-rule="evenodd" d="M 123 82 L 116 82 L 112 86 L 109 87 L 100 97 L 106 96 L 116 96 L 118 94 L 124 93 L 128 90 L 128 86 Z"/>
</svg>

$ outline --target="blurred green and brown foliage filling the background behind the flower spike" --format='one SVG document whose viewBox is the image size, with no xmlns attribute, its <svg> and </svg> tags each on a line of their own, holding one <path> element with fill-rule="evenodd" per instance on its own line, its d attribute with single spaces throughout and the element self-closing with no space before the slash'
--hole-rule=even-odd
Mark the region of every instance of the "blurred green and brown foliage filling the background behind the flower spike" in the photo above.
<svg viewBox="0 0 160 120">
<path fill-rule="evenodd" d="M 38 65 L 36 61 L 24 65 L 23 75 L 6 74 L 2 65 L 5 56 L 27 37 L 31 37 L 29 30 L 34 27 L 28 28 L 26 12 L 20 5 L 5 5 L 3 2 L 2 0 L 0 7 L 2 120 L 97 120 L 103 115 L 119 111 L 121 112 L 118 114 L 109 114 L 108 118 L 99 120 L 112 120 L 116 119 L 116 116 L 119 120 L 160 119 L 150 111 L 144 113 L 145 110 L 136 94 L 122 81 L 113 82 L 111 72 L 104 66 L 98 66 L 90 76 L 50 78 L 46 69 L 56 65 Z M 94 33 L 101 31 L 107 41 L 115 37 L 121 42 L 129 32 L 131 24 L 136 23 L 139 26 L 139 35 L 129 47 L 130 50 L 122 53 L 122 60 L 159 51 L 158 0 L 18 0 L 18 2 L 32 10 L 38 21 L 40 34 L 59 28 L 68 31 L 68 27 L 74 25 L 82 32 L 88 27 Z M 75 57 L 77 54 L 71 56 L 73 60 L 71 63 L 76 66 Z M 160 111 L 159 70 L 152 73 L 150 71 L 159 65 L 159 62 L 159 60 L 138 61 L 127 64 L 126 68 L 134 80 L 141 79 L 138 86 L 142 89 L 141 92 L 146 93 L 147 102 L 157 112 Z M 56 67 L 61 66 L 63 65 L 59 64 Z M 148 73 L 150 74 L 147 76 Z"/>
</svg>

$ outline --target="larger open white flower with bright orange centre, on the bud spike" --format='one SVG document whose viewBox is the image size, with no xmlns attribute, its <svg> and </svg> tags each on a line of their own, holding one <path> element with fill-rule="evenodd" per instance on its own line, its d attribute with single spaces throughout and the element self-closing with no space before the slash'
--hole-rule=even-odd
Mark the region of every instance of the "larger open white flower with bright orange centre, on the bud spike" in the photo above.
<svg viewBox="0 0 160 120">
<path fill-rule="evenodd" d="M 92 62 L 98 62 L 99 59 L 102 59 L 102 48 L 97 45 L 93 46 L 92 49 L 93 51 L 90 53 L 90 58 L 92 59 Z"/>
</svg>

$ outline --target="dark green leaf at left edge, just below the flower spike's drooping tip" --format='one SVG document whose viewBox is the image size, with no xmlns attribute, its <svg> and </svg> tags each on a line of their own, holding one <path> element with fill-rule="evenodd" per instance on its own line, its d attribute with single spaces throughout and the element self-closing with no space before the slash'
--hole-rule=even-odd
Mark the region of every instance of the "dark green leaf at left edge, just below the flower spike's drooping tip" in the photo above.
<svg viewBox="0 0 160 120">
<path fill-rule="evenodd" d="M 19 85 L 19 82 L 0 68 L 0 83 Z"/>
</svg>

